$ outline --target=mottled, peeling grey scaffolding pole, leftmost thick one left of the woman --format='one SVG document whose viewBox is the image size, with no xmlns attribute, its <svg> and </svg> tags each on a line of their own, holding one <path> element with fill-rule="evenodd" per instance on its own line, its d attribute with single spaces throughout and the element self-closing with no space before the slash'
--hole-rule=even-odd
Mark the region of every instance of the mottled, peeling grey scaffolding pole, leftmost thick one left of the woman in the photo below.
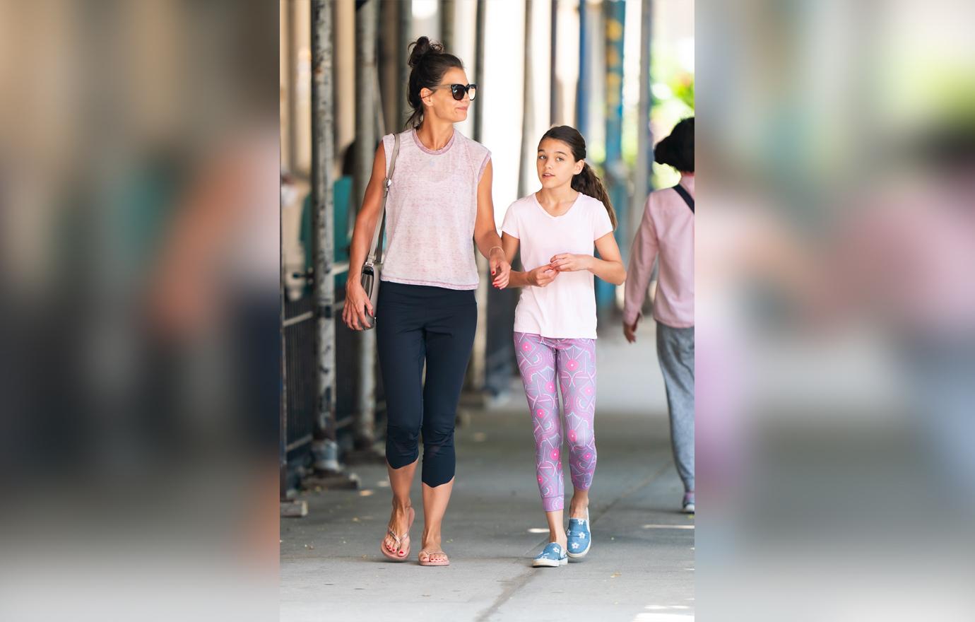
<svg viewBox="0 0 975 622">
<path fill-rule="evenodd" d="M 315 440 L 312 452 L 316 470 L 337 473 L 338 445 L 335 443 L 335 324 L 334 280 L 331 276 L 334 159 L 334 101 L 332 96 L 333 56 L 331 44 L 331 0 L 312 0 L 312 218 L 315 231 L 315 315 L 318 367 L 315 401 Z"/>
</svg>

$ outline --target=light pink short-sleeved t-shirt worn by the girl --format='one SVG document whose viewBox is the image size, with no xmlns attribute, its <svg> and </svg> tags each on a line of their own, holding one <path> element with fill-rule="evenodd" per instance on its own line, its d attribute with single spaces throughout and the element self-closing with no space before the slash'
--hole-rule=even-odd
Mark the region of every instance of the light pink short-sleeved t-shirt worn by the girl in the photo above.
<svg viewBox="0 0 975 622">
<path fill-rule="evenodd" d="M 596 240 L 612 232 L 602 201 L 579 194 L 568 212 L 553 216 L 529 194 L 511 204 L 501 230 L 518 238 L 525 270 L 559 253 L 593 254 Z M 596 292 L 588 270 L 560 272 L 544 288 L 522 288 L 515 331 L 553 339 L 596 338 Z"/>
</svg>

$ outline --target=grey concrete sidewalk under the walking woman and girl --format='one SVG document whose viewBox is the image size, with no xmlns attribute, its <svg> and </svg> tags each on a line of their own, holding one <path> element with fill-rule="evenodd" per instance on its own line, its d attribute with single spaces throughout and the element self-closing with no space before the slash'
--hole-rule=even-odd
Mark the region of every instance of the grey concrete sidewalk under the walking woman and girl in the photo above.
<svg viewBox="0 0 975 622">
<path fill-rule="evenodd" d="M 662 400 L 633 395 L 660 383 L 652 343 L 623 351 L 618 341 L 601 339 L 601 348 L 600 390 L 614 387 L 606 402 L 616 409 L 601 400 L 597 411 L 593 548 L 584 560 L 530 565 L 548 529 L 524 396 L 516 394 L 503 408 L 473 412 L 471 424 L 457 430 L 456 484 L 444 525 L 449 566 L 416 564 L 423 521 L 418 477 L 409 562 L 380 554 L 390 511 L 385 467 L 357 466 L 363 490 L 309 492 L 308 516 L 282 519 L 281 619 L 692 620 L 694 521 L 679 511 L 683 487 L 666 411 Z M 645 381 L 624 382 L 618 374 Z M 641 412 L 635 402 L 657 406 Z M 627 403 L 630 410 L 620 408 Z M 565 480 L 570 494 L 567 473 Z"/>
</svg>

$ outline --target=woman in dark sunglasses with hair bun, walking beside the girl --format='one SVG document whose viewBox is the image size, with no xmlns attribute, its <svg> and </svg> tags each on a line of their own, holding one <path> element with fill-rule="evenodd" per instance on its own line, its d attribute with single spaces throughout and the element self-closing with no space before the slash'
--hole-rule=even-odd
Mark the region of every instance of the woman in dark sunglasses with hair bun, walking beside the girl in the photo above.
<svg viewBox="0 0 975 622">
<path fill-rule="evenodd" d="M 510 264 L 494 228 L 490 152 L 453 128 L 467 118 L 476 93 L 459 58 L 420 37 L 409 56 L 408 130 L 386 203 L 389 244 L 377 309 L 360 283 L 379 223 L 382 185 L 395 136 L 376 149 L 363 207 L 356 217 L 342 319 L 352 330 L 375 330 L 386 391 L 386 462 L 393 512 L 380 550 L 409 556 L 415 513 L 409 491 L 423 435 L 423 542 L 420 565 L 448 565 L 441 524 L 453 487 L 453 427 L 474 344 L 478 269 L 473 238 L 490 262 L 495 287 L 507 285 Z M 368 314 L 368 315 L 367 315 Z M 423 368 L 426 364 L 426 382 Z"/>
</svg>

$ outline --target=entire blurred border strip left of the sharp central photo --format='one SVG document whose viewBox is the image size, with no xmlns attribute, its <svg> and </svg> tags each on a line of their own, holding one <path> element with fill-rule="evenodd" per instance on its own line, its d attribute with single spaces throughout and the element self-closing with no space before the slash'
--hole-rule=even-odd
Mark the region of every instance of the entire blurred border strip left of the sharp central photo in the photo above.
<svg viewBox="0 0 975 622">
<path fill-rule="evenodd" d="M 269 602 L 249 581 L 267 575 L 240 570 L 277 568 L 277 12 L 0 9 L 0 161 L 21 204 L 0 226 L 20 325 L 4 415 L 23 422 L 4 443 L 24 458 L 0 618 L 131 618 L 160 585 L 165 619 Z"/>
</svg>

